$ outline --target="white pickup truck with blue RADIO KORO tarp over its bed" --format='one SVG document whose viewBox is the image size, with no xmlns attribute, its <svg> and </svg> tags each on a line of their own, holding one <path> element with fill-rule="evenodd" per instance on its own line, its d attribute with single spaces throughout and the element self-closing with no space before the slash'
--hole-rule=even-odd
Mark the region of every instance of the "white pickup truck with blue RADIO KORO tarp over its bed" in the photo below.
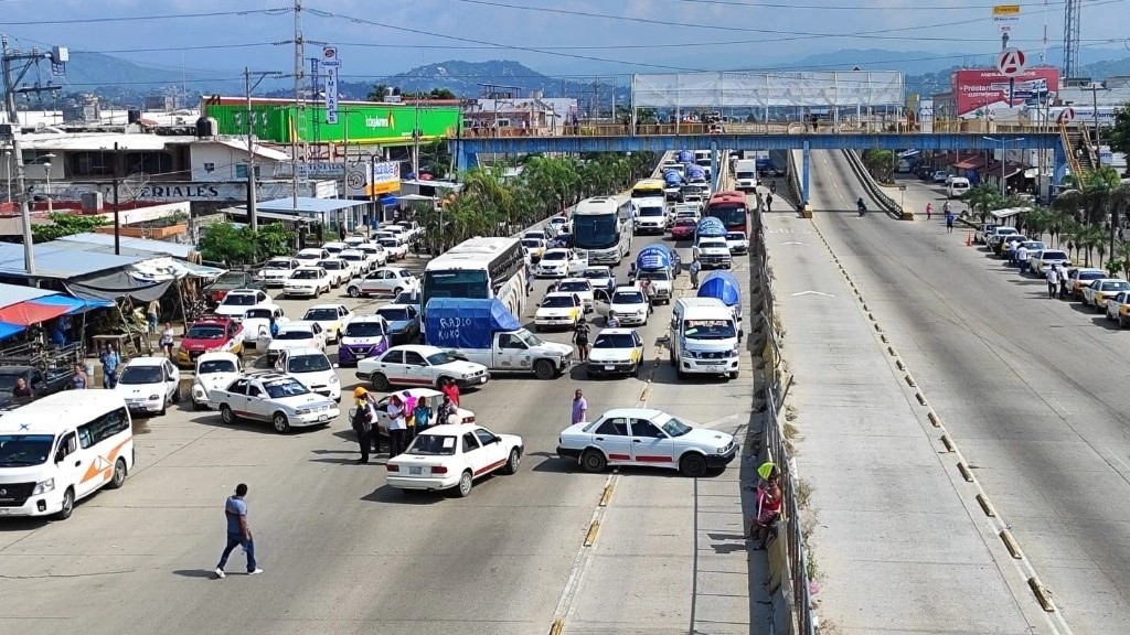
<svg viewBox="0 0 1130 635">
<path fill-rule="evenodd" d="M 438 298 L 427 305 L 426 341 L 494 373 L 560 376 L 573 364 L 573 347 L 547 342 L 522 328 L 498 299 Z"/>
</svg>

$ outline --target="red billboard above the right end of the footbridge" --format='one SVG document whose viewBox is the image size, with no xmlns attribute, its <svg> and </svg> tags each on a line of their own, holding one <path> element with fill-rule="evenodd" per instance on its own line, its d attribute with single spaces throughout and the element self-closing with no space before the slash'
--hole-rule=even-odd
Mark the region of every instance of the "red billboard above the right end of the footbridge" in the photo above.
<svg viewBox="0 0 1130 635">
<path fill-rule="evenodd" d="M 993 110 L 1023 106 L 1031 99 L 1054 97 L 1059 92 L 1059 69 L 1033 68 L 1012 78 L 1012 103 L 1009 104 L 1008 79 L 997 69 L 954 71 L 957 116 L 988 116 Z"/>
</svg>

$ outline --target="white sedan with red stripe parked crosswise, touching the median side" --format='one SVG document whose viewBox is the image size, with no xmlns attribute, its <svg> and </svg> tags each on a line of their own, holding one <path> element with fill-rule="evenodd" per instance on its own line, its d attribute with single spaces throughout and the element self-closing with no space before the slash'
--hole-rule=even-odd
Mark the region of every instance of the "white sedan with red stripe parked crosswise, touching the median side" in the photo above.
<svg viewBox="0 0 1130 635">
<path fill-rule="evenodd" d="M 654 466 L 698 478 L 724 469 L 738 454 L 733 436 L 694 427 L 662 410 L 618 408 L 591 423 L 562 430 L 557 455 L 574 459 L 589 472 L 608 466 Z"/>
</svg>

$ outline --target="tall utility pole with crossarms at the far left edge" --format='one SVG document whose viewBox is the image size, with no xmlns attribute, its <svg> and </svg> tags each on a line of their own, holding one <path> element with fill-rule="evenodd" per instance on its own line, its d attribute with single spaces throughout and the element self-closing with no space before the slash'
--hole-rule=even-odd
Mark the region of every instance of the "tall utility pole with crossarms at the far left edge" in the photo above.
<svg viewBox="0 0 1130 635">
<path fill-rule="evenodd" d="M 33 47 L 29 53 L 11 50 L 8 47 L 7 35 L 0 36 L 0 45 L 3 49 L 3 56 L 0 60 L 2 60 L 3 67 L 5 110 L 8 112 L 8 123 L 11 127 L 11 154 L 16 158 L 16 186 L 19 189 L 19 215 L 24 230 L 24 267 L 27 269 L 28 276 L 34 276 L 35 249 L 32 244 L 32 206 L 31 199 L 27 195 L 27 184 L 24 179 L 24 148 L 19 142 L 23 131 L 19 123 L 19 110 L 16 107 L 16 93 L 35 93 L 40 95 L 41 93 L 59 90 L 60 86 L 51 85 L 19 88 L 19 82 L 24 80 L 27 71 L 33 66 L 38 66 L 40 60 L 51 60 L 52 75 L 66 73 L 66 64 L 70 60 L 70 53 L 63 46 L 55 46 L 50 52 L 42 52 L 37 47 Z M 18 70 L 14 69 L 12 62 L 17 62 L 20 68 Z"/>
</svg>

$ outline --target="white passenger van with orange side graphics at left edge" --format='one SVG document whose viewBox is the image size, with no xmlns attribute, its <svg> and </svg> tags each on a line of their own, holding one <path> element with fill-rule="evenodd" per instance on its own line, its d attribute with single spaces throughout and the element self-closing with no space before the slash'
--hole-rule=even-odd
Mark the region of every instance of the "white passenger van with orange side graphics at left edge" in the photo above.
<svg viewBox="0 0 1130 635">
<path fill-rule="evenodd" d="M 133 468 L 133 428 L 122 393 L 68 390 L 0 416 L 0 516 L 67 520 Z"/>
</svg>

